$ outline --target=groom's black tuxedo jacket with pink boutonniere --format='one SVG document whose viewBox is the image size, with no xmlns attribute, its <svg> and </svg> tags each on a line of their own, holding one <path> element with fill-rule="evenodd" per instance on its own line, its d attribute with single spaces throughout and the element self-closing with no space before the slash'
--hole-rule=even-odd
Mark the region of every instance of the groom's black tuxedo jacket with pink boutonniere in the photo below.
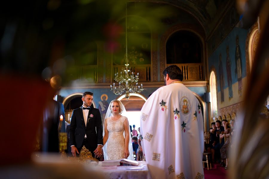
<svg viewBox="0 0 269 179">
<path fill-rule="evenodd" d="M 91 114 L 93 117 L 90 117 Z M 87 135 L 91 150 L 96 149 L 97 144 L 103 145 L 103 130 L 100 111 L 90 107 L 87 126 L 85 126 L 82 107 L 74 109 L 71 116 L 69 131 L 70 146 L 74 145 L 77 148 L 82 147 L 85 134 Z"/>
</svg>

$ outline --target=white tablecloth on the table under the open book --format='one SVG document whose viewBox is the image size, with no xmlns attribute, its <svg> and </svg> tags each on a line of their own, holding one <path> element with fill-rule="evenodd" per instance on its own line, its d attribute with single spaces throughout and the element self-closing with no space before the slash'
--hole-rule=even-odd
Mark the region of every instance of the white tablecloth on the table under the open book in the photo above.
<svg viewBox="0 0 269 179">
<path fill-rule="evenodd" d="M 143 169 L 131 169 L 141 167 Z M 149 169 L 145 161 L 139 161 L 139 166 L 101 166 L 101 162 L 92 169 L 102 172 L 106 178 L 110 179 L 151 179 Z"/>
</svg>

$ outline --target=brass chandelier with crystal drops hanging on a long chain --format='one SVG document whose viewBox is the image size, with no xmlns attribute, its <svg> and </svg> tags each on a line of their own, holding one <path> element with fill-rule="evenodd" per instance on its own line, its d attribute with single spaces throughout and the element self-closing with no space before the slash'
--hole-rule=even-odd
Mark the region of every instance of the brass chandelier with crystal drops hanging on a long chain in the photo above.
<svg viewBox="0 0 269 179">
<path fill-rule="evenodd" d="M 122 68 L 120 74 L 118 74 L 118 72 L 115 73 L 114 80 L 119 83 L 119 86 L 116 87 L 115 83 L 113 83 L 113 86 L 110 85 L 110 88 L 111 91 L 113 91 L 113 93 L 116 95 L 121 95 L 125 92 L 126 93 L 125 97 L 128 100 L 130 97 L 130 93 L 140 93 L 144 89 L 142 83 L 141 86 L 138 85 L 137 83 L 139 79 L 138 78 L 139 73 L 135 75 L 134 72 L 132 72 L 129 67 L 128 51 L 127 51 L 127 3 L 126 3 L 126 18 L 125 18 L 125 43 L 126 43 L 125 68 Z"/>
</svg>

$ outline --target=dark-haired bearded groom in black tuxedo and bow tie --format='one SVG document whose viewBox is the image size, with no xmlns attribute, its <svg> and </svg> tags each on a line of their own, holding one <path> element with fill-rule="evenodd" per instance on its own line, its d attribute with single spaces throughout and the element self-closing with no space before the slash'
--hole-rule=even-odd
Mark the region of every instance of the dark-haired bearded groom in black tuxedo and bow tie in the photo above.
<svg viewBox="0 0 269 179">
<path fill-rule="evenodd" d="M 85 146 L 94 157 L 100 157 L 103 146 L 103 130 L 100 111 L 91 107 L 93 93 L 82 94 L 83 104 L 73 110 L 70 123 L 71 152 L 77 157 L 80 150 Z"/>
</svg>

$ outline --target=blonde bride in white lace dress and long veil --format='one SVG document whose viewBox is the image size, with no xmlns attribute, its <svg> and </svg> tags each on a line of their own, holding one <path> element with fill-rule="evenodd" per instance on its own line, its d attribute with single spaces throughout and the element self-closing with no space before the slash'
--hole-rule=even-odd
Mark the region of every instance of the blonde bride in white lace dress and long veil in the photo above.
<svg viewBox="0 0 269 179">
<path fill-rule="evenodd" d="M 103 152 L 105 160 L 128 158 L 134 160 L 132 138 L 126 112 L 121 101 L 112 100 L 106 112 L 103 129 Z"/>
</svg>

